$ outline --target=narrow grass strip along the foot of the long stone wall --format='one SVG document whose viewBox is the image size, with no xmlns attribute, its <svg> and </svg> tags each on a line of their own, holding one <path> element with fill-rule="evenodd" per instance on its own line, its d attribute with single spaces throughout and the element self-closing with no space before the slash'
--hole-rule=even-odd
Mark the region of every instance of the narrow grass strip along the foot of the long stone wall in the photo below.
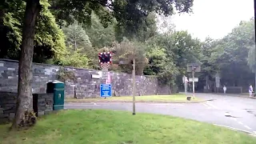
<svg viewBox="0 0 256 144">
<path fill-rule="evenodd" d="M 110 97 L 110 98 L 85 98 L 85 99 L 66 99 L 66 102 L 133 102 L 133 97 Z M 184 94 L 172 95 L 150 95 L 150 96 L 136 96 L 136 102 L 200 102 L 200 98 L 191 98 L 191 101 L 186 100 Z"/>
</svg>

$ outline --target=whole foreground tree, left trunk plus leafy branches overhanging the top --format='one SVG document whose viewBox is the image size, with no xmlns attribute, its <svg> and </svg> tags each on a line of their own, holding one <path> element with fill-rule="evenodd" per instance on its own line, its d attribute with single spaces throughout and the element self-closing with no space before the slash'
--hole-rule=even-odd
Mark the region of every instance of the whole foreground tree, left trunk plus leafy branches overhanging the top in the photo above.
<svg viewBox="0 0 256 144">
<path fill-rule="evenodd" d="M 92 10 L 101 19 L 103 26 L 108 26 L 112 18 L 116 18 L 118 29 L 127 34 L 136 34 L 138 27 L 145 22 L 147 14 L 156 11 L 158 14 L 173 13 L 173 4 L 180 12 L 190 12 L 192 0 L 186 1 L 85 1 L 85 0 L 54 0 L 50 1 L 54 14 L 58 20 L 64 19 L 73 23 L 90 24 Z M 17 128 L 27 112 L 32 110 L 32 60 L 34 53 L 35 24 L 38 14 L 42 10 L 39 0 L 26 0 L 26 10 L 22 28 L 22 46 L 18 69 L 18 104 L 13 128 Z M 60 22 L 60 21 L 58 21 Z"/>
</svg>

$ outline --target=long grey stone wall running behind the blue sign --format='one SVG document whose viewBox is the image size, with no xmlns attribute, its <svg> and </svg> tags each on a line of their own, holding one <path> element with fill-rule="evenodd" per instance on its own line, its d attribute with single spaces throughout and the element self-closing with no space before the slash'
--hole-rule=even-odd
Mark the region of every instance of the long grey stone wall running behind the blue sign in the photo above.
<svg viewBox="0 0 256 144">
<path fill-rule="evenodd" d="M 59 66 L 33 64 L 33 93 L 45 94 L 46 83 L 58 79 Z M 101 79 L 92 78 L 92 74 L 101 75 L 98 70 L 77 69 L 65 67 L 73 71 L 76 82 L 67 80 L 66 98 L 94 98 L 99 96 Z M 132 78 L 130 74 L 110 72 L 113 94 L 129 96 L 132 94 Z M 17 92 L 18 61 L 0 59 L 0 90 Z M 159 86 L 157 78 L 136 76 L 136 92 L 138 95 L 170 94 L 169 86 Z"/>
</svg>

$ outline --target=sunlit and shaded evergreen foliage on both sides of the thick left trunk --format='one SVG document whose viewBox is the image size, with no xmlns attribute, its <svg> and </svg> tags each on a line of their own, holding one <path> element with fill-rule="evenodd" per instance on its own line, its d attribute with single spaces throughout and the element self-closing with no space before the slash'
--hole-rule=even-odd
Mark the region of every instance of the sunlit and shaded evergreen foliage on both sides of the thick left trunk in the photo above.
<svg viewBox="0 0 256 144">
<path fill-rule="evenodd" d="M 18 59 L 22 42 L 22 18 L 26 3 L 12 0 L 1 3 L 7 5 L 4 10 L 3 23 L 0 23 L 4 39 L 1 46 L 1 58 Z M 46 62 L 47 59 L 58 59 L 65 47 L 65 36 L 56 24 L 54 16 L 48 10 L 49 3 L 41 1 L 42 11 L 39 14 L 34 38 L 34 62 Z"/>
</svg>

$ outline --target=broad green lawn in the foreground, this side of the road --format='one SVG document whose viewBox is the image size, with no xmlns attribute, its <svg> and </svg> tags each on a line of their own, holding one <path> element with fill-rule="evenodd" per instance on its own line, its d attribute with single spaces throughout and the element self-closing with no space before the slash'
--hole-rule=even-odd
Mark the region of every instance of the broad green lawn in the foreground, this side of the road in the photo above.
<svg viewBox="0 0 256 144">
<path fill-rule="evenodd" d="M 30 130 L 7 132 L 2 144 L 255 144 L 256 138 L 238 131 L 157 114 L 110 110 L 62 110 L 40 118 Z"/>
</svg>

